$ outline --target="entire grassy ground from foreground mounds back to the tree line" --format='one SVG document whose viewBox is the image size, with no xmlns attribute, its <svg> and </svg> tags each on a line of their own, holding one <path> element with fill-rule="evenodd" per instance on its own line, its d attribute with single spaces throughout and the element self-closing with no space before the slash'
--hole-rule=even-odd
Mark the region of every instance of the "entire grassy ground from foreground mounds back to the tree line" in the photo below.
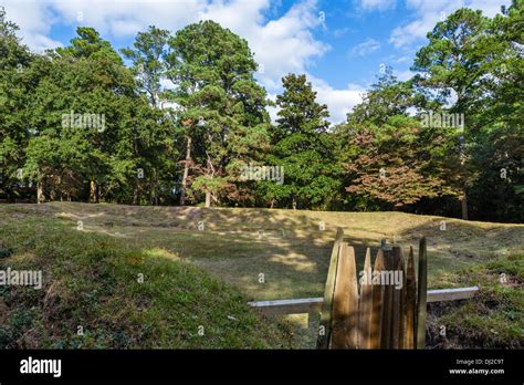
<svg viewBox="0 0 524 385">
<path fill-rule="evenodd" d="M 4 263 L 34 260 L 57 277 L 44 298 L 31 298 L 27 291 L 4 293 L 7 306 L 12 306 L 6 312 L 7 326 L 0 322 L 0 344 L 3 339 L 6 346 L 14 347 L 61 347 L 63 341 L 65 347 L 313 347 L 314 323 L 304 330 L 296 327 L 304 326 L 303 318 L 290 316 L 292 332 L 273 321 L 258 330 L 260 321 L 244 303 L 322 296 L 337 227 L 360 261 L 365 247 L 375 254 L 381 239 L 407 250 L 425 236 L 430 289 L 481 287 L 478 300 L 467 304 L 432 305 L 430 346 L 521 347 L 515 341 L 524 335 L 523 225 L 404 212 L 73 202 L 0 206 L 3 251 L 14 249 Z M 122 253 L 125 257 L 116 257 Z M 202 269 L 209 278 L 199 272 Z M 129 283 L 140 271 L 151 285 Z M 499 284 L 501 273 L 507 275 L 505 285 Z M 231 291 L 234 287 L 241 296 Z M 75 291 L 103 305 L 82 304 Z M 45 320 L 39 324 L 31 309 L 42 303 Z M 45 331 L 50 318 L 57 322 L 56 335 Z M 102 332 L 78 339 L 73 323 L 81 320 L 101 323 Z M 442 322 L 449 334 L 439 340 Z M 201 324 L 213 333 L 211 339 L 199 339 Z M 291 341 L 293 334 L 298 339 Z"/>
</svg>

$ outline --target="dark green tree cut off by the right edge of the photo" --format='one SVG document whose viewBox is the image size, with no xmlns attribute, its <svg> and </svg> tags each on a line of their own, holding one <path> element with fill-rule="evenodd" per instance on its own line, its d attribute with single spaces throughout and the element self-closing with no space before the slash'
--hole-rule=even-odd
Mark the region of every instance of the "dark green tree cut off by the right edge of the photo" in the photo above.
<svg viewBox="0 0 524 385">
<path fill-rule="evenodd" d="M 524 220 L 523 1 L 513 1 L 491 22 L 489 33 L 501 54 L 485 66 L 483 97 L 472 106 L 475 133 L 472 163 L 478 177 L 470 187 L 472 211 L 483 220 Z"/>
</svg>

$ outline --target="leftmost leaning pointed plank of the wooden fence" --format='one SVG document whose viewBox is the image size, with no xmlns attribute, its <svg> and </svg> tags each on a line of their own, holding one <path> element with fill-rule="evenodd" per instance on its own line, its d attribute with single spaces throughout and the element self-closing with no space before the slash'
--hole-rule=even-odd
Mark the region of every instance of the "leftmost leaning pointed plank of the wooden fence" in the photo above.
<svg viewBox="0 0 524 385">
<path fill-rule="evenodd" d="M 316 348 L 327 348 L 331 339 L 333 293 L 335 290 L 335 278 L 338 261 L 338 249 L 344 238 L 344 231 L 338 228 L 333 244 L 332 256 L 329 259 L 329 269 L 327 271 L 326 287 L 324 291 L 324 301 L 322 303 L 321 323 L 318 326 L 318 337 Z"/>
</svg>

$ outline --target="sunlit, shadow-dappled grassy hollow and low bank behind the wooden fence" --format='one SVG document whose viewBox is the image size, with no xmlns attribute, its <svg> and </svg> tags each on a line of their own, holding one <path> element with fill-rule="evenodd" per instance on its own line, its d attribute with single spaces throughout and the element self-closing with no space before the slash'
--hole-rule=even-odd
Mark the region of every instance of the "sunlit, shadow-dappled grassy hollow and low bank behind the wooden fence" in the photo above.
<svg viewBox="0 0 524 385">
<path fill-rule="evenodd" d="M 200 209 L 50 204 L 0 207 L 19 216 L 62 218 L 71 228 L 124 239 L 138 248 L 160 248 L 241 288 L 250 299 L 322 296 L 336 227 L 364 258 L 364 246 L 381 238 L 417 246 L 428 237 L 429 285 L 441 273 L 524 253 L 524 226 L 416 216 L 402 212 L 318 212 L 269 209 Z M 324 221 L 325 231 L 318 230 Z M 446 231 L 440 230 L 446 220 Z M 205 231 L 198 231 L 203 221 Z M 284 229 L 285 237 L 282 236 Z M 258 230 L 263 230 L 259 239 Z M 265 282 L 260 283 L 260 273 Z"/>
</svg>

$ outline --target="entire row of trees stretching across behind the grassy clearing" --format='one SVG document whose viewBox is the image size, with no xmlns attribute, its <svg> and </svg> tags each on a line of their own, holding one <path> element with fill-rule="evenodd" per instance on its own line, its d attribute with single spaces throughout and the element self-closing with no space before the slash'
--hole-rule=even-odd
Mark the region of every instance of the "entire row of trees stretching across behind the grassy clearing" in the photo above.
<svg viewBox="0 0 524 385">
<path fill-rule="evenodd" d="M 36 54 L 0 8 L 0 199 L 522 222 L 522 3 L 438 22 L 416 75 L 381 67 L 337 125 L 304 74 L 270 101 L 248 42 L 217 22 L 151 25 L 119 52 L 78 28 Z"/>
</svg>

